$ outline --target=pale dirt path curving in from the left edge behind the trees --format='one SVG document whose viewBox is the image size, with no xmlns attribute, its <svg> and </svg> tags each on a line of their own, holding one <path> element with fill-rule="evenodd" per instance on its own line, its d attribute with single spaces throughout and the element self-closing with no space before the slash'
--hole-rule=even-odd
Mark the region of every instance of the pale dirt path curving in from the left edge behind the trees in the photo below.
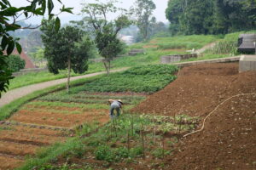
<svg viewBox="0 0 256 170">
<path fill-rule="evenodd" d="M 127 68 L 121 68 L 119 70 L 113 70 L 111 72 L 117 72 L 117 71 L 125 71 Z M 79 80 L 81 78 L 88 78 L 88 77 L 95 77 L 97 75 L 104 74 L 105 71 L 102 72 L 96 72 L 88 75 L 83 75 L 79 77 L 71 77 L 70 80 Z M 49 82 L 40 82 L 38 84 L 32 84 L 26 87 L 22 88 L 15 88 L 13 90 L 8 91 L 6 94 L 3 94 L 2 98 L 0 99 L 0 107 L 3 105 L 8 105 L 10 102 L 14 101 L 15 99 L 20 99 L 21 97 L 26 96 L 27 94 L 32 94 L 35 91 L 42 90 L 44 88 L 49 88 L 58 84 L 61 84 L 63 82 L 67 82 L 67 78 L 62 78 L 58 80 L 53 80 Z"/>
</svg>

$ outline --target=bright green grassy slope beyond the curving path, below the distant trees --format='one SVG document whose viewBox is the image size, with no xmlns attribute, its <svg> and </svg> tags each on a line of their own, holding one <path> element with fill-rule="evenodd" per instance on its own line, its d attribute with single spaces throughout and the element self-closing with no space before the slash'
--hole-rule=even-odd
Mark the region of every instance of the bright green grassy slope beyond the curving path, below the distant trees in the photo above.
<svg viewBox="0 0 256 170">
<path fill-rule="evenodd" d="M 128 47 L 127 51 L 131 48 L 143 48 L 144 54 L 137 54 L 136 56 L 125 55 L 114 59 L 111 62 L 111 68 L 132 67 L 137 65 L 157 65 L 160 64 L 160 57 L 169 54 L 187 54 L 188 49 L 198 49 L 211 42 L 218 42 L 215 48 L 207 50 L 203 57 L 198 59 L 188 59 L 184 61 L 202 60 L 202 59 L 218 59 L 236 55 L 237 38 L 241 33 L 255 32 L 255 31 L 241 31 L 230 33 L 225 36 L 212 36 L 212 35 L 193 35 L 193 36 L 177 36 L 177 37 L 155 37 L 148 42 L 139 42 Z M 98 71 L 105 71 L 102 63 L 90 61 L 89 71 L 84 74 L 90 74 Z M 9 89 L 20 88 L 26 85 L 46 82 L 59 78 L 67 77 L 67 71 L 61 71 L 59 75 L 53 75 L 48 71 L 39 73 L 28 73 L 23 76 L 15 77 L 10 81 Z M 72 73 L 72 76 L 79 76 L 79 74 Z"/>
</svg>

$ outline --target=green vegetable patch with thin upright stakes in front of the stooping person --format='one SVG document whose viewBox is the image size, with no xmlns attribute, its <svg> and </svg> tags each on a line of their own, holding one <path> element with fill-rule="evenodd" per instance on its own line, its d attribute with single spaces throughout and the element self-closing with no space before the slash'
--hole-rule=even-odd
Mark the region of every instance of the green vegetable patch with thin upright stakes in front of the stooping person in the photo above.
<svg viewBox="0 0 256 170">
<path fill-rule="evenodd" d="M 190 116 L 121 115 L 91 133 L 78 149 L 69 150 L 49 169 L 154 169 L 160 160 L 172 155 L 184 133 L 198 126 L 199 118 Z M 73 165 L 70 167 L 67 165 Z"/>
</svg>

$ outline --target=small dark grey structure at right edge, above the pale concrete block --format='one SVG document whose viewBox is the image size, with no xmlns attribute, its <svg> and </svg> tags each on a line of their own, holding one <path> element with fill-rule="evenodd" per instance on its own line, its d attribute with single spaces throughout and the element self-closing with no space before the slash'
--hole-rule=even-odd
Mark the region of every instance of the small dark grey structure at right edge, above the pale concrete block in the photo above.
<svg viewBox="0 0 256 170">
<path fill-rule="evenodd" d="M 241 34 L 238 39 L 238 51 L 245 53 L 255 52 L 256 34 Z"/>
</svg>

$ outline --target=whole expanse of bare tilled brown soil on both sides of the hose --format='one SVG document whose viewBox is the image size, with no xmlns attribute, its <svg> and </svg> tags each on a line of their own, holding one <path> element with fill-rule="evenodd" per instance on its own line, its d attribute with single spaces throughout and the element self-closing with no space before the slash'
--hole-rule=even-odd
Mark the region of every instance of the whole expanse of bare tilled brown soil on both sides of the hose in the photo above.
<svg viewBox="0 0 256 170">
<path fill-rule="evenodd" d="M 178 78 L 132 111 L 174 116 L 207 116 L 225 99 L 256 93 L 256 71 L 238 73 L 238 64 L 183 68 Z M 182 139 L 166 169 L 256 169 L 256 95 L 225 102 L 202 132 Z"/>
</svg>

